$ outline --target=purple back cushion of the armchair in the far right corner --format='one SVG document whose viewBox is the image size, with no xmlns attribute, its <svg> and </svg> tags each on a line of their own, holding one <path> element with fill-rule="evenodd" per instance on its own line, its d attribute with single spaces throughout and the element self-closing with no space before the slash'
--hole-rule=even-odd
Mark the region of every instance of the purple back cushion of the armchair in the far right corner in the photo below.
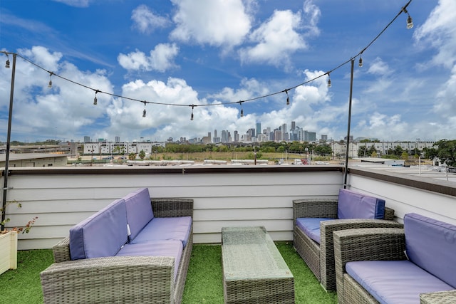
<svg viewBox="0 0 456 304">
<path fill-rule="evenodd" d="M 383 219 L 385 200 L 340 189 L 337 203 L 338 219 Z"/>
</svg>

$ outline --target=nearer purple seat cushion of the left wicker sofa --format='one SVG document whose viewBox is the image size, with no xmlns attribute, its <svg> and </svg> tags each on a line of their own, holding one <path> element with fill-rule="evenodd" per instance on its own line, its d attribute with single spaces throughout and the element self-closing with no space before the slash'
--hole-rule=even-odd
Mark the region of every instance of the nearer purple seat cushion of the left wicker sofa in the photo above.
<svg viewBox="0 0 456 304">
<path fill-rule="evenodd" d="M 175 258 L 174 277 L 177 275 L 182 256 L 181 241 L 150 241 L 148 243 L 125 244 L 116 256 L 172 256 Z"/>
</svg>

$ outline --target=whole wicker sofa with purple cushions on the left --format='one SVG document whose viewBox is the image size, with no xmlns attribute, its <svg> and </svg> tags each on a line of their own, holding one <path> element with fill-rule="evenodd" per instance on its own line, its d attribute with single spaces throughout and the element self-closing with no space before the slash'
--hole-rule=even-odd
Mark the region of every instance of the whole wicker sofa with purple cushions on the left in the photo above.
<svg viewBox="0 0 456 304">
<path fill-rule="evenodd" d="M 53 247 L 55 263 L 41 272 L 44 303 L 181 303 L 192 216 L 192 199 L 151 199 L 147 188 L 113 201 Z"/>
</svg>

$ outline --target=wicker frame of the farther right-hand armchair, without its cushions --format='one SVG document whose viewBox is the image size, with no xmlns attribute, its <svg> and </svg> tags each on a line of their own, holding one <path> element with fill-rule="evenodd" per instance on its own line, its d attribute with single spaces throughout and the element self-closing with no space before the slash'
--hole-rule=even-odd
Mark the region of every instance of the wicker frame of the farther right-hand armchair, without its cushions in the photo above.
<svg viewBox="0 0 456 304">
<path fill-rule="evenodd" d="M 382 219 L 337 219 L 336 199 L 295 199 L 293 201 L 294 248 L 304 259 L 318 281 L 326 290 L 336 290 L 334 268 L 333 231 L 368 227 L 402 228 L 394 219 L 394 210 L 385 208 Z M 328 218 L 330 221 L 320 223 L 320 243 L 312 240 L 296 226 L 296 219 Z"/>
</svg>

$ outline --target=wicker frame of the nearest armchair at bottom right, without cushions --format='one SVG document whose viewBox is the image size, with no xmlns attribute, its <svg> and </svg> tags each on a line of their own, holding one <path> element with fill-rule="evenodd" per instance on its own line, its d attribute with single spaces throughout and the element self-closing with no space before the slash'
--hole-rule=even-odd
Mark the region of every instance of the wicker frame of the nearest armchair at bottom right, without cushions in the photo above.
<svg viewBox="0 0 456 304">
<path fill-rule="evenodd" d="M 350 261 L 400 261 L 405 260 L 404 229 L 349 229 L 334 232 L 337 298 L 339 304 L 378 303 L 348 273 Z M 363 250 L 359 250 L 360 244 Z M 420 294 L 421 304 L 456 303 L 456 290 Z"/>
</svg>

